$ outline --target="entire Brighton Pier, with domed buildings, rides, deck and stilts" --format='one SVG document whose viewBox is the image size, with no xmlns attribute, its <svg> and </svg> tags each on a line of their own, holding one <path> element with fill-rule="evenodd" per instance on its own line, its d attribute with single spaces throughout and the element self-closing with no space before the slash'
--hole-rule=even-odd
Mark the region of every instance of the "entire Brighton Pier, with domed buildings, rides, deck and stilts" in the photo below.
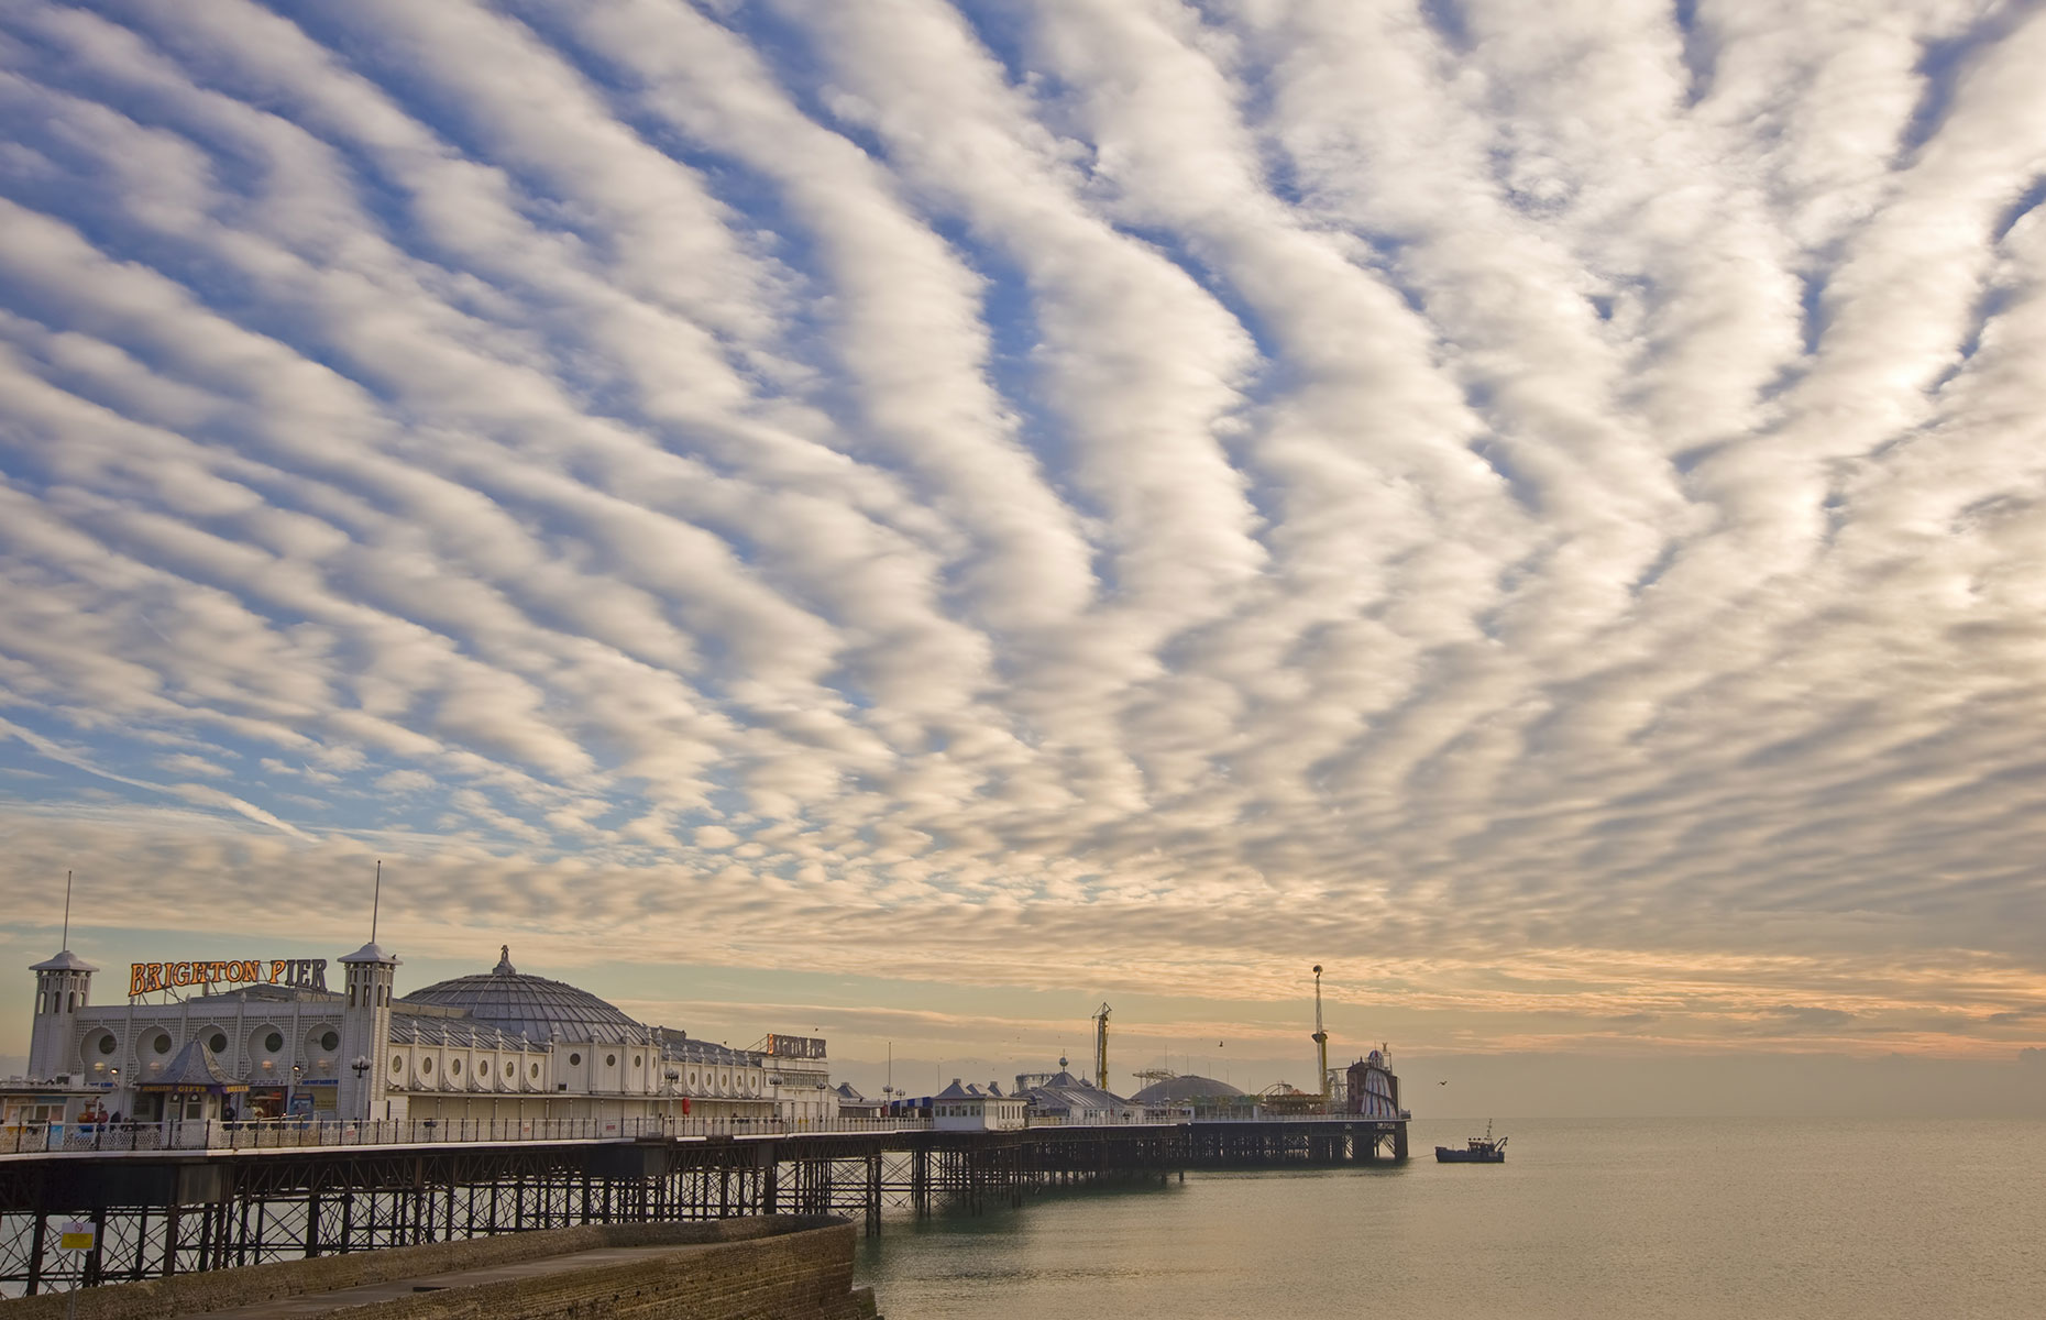
<svg viewBox="0 0 2046 1320">
<path fill-rule="evenodd" d="M 822 1040 L 696 1040 L 503 948 L 403 997 L 374 937 L 340 964 L 336 988 L 321 960 L 135 964 L 108 1005 L 70 948 L 35 964 L 31 1074 L 0 1085 L 0 1295 L 591 1224 L 876 1234 L 890 1209 L 1408 1156 L 1385 1052 L 1328 1068 L 1320 966 L 1318 1093 L 1150 1074 L 1117 1097 L 1101 1005 L 1093 1081 L 1060 1060 L 1013 1093 L 865 1101 L 831 1087 Z"/>
</svg>

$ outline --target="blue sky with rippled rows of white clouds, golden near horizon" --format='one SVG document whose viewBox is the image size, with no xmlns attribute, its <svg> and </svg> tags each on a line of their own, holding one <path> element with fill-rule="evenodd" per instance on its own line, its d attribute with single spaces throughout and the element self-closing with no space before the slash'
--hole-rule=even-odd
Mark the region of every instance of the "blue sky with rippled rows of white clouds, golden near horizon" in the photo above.
<svg viewBox="0 0 2046 1320">
<path fill-rule="evenodd" d="M 0 0 L 0 956 L 72 872 L 108 982 L 333 958 L 381 860 L 413 984 L 931 1076 L 1111 1003 L 1311 1085 L 1324 964 L 1338 1056 L 2046 1109 L 2042 68 L 2003 0 Z"/>
</svg>

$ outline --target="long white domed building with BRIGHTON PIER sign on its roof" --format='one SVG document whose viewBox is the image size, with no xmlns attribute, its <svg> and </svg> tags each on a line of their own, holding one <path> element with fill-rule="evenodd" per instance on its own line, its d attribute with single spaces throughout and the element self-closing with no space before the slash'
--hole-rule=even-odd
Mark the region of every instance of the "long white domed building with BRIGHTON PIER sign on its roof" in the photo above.
<svg viewBox="0 0 2046 1320">
<path fill-rule="evenodd" d="M 520 972 L 509 948 L 487 972 L 407 995 L 401 960 L 374 941 L 336 962 L 340 984 L 319 958 L 139 962 L 125 999 L 94 1003 L 98 968 L 63 950 L 33 966 L 29 1074 L 0 1085 L 4 1121 L 837 1113 L 820 1038 L 696 1040 Z"/>
</svg>

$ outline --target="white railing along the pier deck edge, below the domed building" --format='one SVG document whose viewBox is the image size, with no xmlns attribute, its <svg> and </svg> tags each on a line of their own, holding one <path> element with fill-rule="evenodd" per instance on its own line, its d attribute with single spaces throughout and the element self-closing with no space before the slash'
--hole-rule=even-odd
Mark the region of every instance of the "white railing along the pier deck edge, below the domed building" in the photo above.
<svg viewBox="0 0 2046 1320">
<path fill-rule="evenodd" d="M 164 1119 L 158 1124 L 8 1124 L 0 1154 L 55 1150 L 276 1150 L 291 1146 L 409 1146 L 446 1142 L 618 1142 L 638 1138 L 786 1136 L 804 1132 L 923 1132 L 925 1117 L 419 1117 Z"/>
</svg>

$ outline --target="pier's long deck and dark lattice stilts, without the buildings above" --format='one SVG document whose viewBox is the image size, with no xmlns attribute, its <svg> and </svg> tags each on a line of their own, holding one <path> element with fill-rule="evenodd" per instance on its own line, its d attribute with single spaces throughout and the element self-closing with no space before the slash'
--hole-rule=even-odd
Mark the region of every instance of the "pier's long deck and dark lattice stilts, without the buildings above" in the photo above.
<svg viewBox="0 0 2046 1320">
<path fill-rule="evenodd" d="M 994 1132 L 915 1119 L 722 1134 L 450 1128 L 115 1130 L 92 1148 L 0 1154 L 0 1295 L 583 1224 L 837 1214 L 878 1234 L 888 1209 L 978 1212 L 1187 1169 L 1408 1154 L 1404 1119 L 1356 1115 Z M 90 1250 L 59 1246 L 68 1222 L 92 1226 Z"/>
</svg>

